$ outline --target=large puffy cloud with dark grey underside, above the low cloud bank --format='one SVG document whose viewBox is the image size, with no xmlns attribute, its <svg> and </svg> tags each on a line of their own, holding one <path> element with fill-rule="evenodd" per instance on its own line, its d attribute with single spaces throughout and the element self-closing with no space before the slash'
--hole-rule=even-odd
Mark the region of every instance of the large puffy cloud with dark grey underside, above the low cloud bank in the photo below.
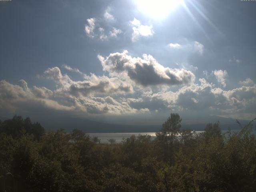
<svg viewBox="0 0 256 192">
<path fill-rule="evenodd" d="M 142 86 L 190 84 L 195 79 L 192 72 L 185 69 L 165 68 L 147 54 L 143 54 L 142 58 L 132 58 L 125 50 L 122 53 L 112 53 L 106 58 L 98 55 L 98 58 L 104 71 L 110 74 L 124 73 Z"/>
</svg>

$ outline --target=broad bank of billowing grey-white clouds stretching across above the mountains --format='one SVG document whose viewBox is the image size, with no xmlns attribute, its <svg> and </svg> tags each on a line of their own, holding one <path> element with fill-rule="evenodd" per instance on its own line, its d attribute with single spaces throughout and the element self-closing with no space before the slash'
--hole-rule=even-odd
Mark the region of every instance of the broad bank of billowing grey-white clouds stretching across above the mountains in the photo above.
<svg viewBox="0 0 256 192">
<path fill-rule="evenodd" d="M 196 83 L 191 71 L 164 67 L 147 54 L 135 58 L 124 51 L 98 55 L 98 59 L 106 72 L 102 76 L 63 66 L 68 72 L 82 74 L 83 80 L 71 79 L 58 67 L 46 69 L 41 77 L 53 82 L 53 90 L 30 87 L 25 80 L 17 85 L 1 80 L 0 111 L 29 114 L 44 110 L 75 116 L 173 111 L 245 119 L 256 115 L 256 84 L 250 78 L 241 81 L 238 88 L 223 90 L 204 78 Z M 226 86 L 225 70 L 214 70 L 212 76 Z"/>
</svg>

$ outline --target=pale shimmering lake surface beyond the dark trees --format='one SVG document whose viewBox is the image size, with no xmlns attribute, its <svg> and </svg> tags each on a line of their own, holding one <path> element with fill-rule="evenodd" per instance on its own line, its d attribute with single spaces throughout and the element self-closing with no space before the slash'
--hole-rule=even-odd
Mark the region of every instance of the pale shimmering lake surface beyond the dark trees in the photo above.
<svg viewBox="0 0 256 192">
<path fill-rule="evenodd" d="M 222 130 L 222 134 L 224 134 L 225 132 L 227 132 L 228 130 Z M 231 130 L 231 132 L 238 132 L 240 130 Z M 197 134 L 200 134 L 204 131 L 196 131 Z M 253 130 L 253 133 L 256 134 L 256 131 Z M 154 137 L 156 137 L 156 133 L 155 132 L 140 132 L 140 133 L 136 133 L 136 132 L 132 132 L 132 133 L 88 133 L 91 137 L 98 137 L 100 139 L 101 143 L 109 143 L 108 140 L 109 139 L 114 139 L 116 140 L 117 143 L 121 142 L 126 138 L 129 138 L 132 135 L 135 136 L 139 136 L 139 135 L 150 135 L 152 137 L 152 139 L 154 139 Z"/>
</svg>

